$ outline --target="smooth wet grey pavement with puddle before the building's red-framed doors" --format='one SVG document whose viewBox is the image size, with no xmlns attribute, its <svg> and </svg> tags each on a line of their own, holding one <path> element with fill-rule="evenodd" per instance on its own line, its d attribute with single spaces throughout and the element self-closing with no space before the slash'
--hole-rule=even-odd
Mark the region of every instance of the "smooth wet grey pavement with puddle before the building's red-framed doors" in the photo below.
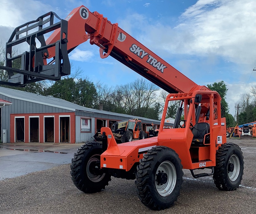
<svg viewBox="0 0 256 214">
<path fill-rule="evenodd" d="M 71 163 L 82 144 L 0 144 L 0 180 Z"/>
</svg>

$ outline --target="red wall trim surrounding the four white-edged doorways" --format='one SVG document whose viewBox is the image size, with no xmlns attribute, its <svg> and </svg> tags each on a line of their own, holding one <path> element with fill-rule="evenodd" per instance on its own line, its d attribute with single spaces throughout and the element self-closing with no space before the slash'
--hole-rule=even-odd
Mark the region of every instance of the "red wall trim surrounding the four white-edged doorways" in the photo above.
<svg viewBox="0 0 256 214">
<path fill-rule="evenodd" d="M 59 115 L 70 115 L 70 143 L 75 143 L 75 112 L 66 113 L 28 113 L 28 114 L 10 114 L 10 143 L 14 143 L 15 139 L 15 117 L 23 116 L 24 120 L 24 132 L 25 143 L 29 143 L 29 116 L 39 116 L 39 143 L 44 142 L 44 117 L 54 116 L 54 142 L 59 143 Z"/>
</svg>

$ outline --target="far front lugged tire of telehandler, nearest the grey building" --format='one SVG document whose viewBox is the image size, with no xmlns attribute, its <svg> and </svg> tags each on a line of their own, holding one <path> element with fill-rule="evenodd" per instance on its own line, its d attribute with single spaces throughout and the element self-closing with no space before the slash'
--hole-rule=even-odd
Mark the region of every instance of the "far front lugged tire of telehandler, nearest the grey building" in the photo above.
<svg viewBox="0 0 256 214">
<path fill-rule="evenodd" d="M 101 143 L 94 141 L 82 145 L 74 154 L 74 158 L 71 160 L 70 174 L 79 190 L 86 193 L 100 192 L 111 180 L 108 173 L 95 173 L 93 171 L 96 161 L 100 161 L 101 153 Z"/>
</svg>

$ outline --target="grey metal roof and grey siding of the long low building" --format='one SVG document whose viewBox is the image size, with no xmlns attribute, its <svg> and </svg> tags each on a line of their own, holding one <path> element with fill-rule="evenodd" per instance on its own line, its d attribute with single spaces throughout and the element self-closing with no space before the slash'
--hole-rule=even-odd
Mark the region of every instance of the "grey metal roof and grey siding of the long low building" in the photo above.
<svg viewBox="0 0 256 214">
<path fill-rule="evenodd" d="M 75 122 L 78 123 L 76 124 L 75 131 L 76 142 L 92 140 L 91 137 L 94 135 L 95 130 L 95 118 L 102 118 L 114 121 L 139 118 L 143 123 L 150 124 L 151 122 L 153 122 L 156 125 L 160 125 L 161 122 L 144 117 L 131 116 L 98 109 L 90 109 L 59 98 L 45 97 L 38 94 L 3 87 L 0 87 L 0 98 L 13 103 L 11 106 L 5 106 L 2 108 L 2 129 L 7 129 L 7 142 L 10 142 L 10 114 L 75 112 Z M 77 116 L 79 116 L 78 119 Z M 92 133 L 88 134 L 80 132 L 80 117 L 91 117 Z M 165 125 L 170 124 L 165 123 Z"/>
</svg>

